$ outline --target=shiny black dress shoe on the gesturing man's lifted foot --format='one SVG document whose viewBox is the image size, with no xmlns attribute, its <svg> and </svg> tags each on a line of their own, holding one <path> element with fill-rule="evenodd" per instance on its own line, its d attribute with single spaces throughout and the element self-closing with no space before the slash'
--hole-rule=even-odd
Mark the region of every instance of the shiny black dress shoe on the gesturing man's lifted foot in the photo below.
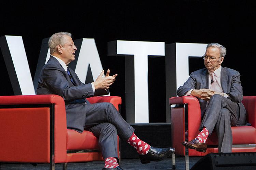
<svg viewBox="0 0 256 170">
<path fill-rule="evenodd" d="M 174 148 L 155 148 L 150 147 L 145 155 L 139 155 L 142 164 L 150 163 L 150 161 L 160 161 L 170 156 L 175 151 Z"/>
</svg>

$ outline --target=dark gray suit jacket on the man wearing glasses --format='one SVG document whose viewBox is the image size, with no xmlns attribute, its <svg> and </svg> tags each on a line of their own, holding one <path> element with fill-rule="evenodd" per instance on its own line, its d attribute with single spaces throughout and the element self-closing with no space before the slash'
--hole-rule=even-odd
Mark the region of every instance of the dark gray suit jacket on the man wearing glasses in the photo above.
<svg viewBox="0 0 256 170">
<path fill-rule="evenodd" d="M 243 100 L 243 88 L 240 82 L 240 73 L 236 70 L 222 67 L 221 69 L 221 86 L 223 92 L 229 95 L 228 99 L 237 103 L 240 108 L 240 116 L 237 126 L 245 124 L 246 111 Z M 177 90 L 178 96 L 184 96 L 190 89 L 209 89 L 209 73 L 206 68 L 194 71 L 190 74 L 188 80 Z M 201 107 L 201 115 L 204 114 L 207 102 L 198 99 Z"/>
</svg>

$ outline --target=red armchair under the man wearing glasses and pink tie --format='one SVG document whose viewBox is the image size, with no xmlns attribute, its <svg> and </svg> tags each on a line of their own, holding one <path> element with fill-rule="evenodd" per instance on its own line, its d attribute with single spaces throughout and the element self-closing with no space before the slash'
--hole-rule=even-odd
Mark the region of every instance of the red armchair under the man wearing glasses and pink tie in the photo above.
<svg viewBox="0 0 256 170">
<path fill-rule="evenodd" d="M 172 147 L 175 148 L 175 154 L 185 155 L 186 164 L 188 165 L 188 156 L 218 153 L 218 139 L 215 132 L 207 139 L 206 153 L 193 149 L 187 150 L 181 144 L 184 140 L 193 140 L 199 133 L 201 111 L 197 98 L 192 96 L 172 97 L 169 102 L 171 105 Z M 256 96 L 245 96 L 242 103 L 246 108 L 247 122 L 252 125 L 231 127 L 233 136 L 232 152 L 256 152 Z M 187 133 L 185 134 L 185 132 Z M 173 166 L 175 167 L 175 165 Z"/>
</svg>

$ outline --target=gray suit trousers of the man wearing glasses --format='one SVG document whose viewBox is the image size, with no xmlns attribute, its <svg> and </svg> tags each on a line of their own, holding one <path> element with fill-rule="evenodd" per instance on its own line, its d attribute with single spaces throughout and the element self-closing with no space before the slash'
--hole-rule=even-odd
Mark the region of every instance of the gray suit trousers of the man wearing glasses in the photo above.
<svg viewBox="0 0 256 170">
<path fill-rule="evenodd" d="M 218 150 L 229 153 L 232 149 L 231 126 L 236 126 L 239 118 L 239 106 L 221 95 L 213 95 L 203 115 L 201 127 L 206 127 L 209 135 L 214 128 L 218 136 Z"/>
</svg>

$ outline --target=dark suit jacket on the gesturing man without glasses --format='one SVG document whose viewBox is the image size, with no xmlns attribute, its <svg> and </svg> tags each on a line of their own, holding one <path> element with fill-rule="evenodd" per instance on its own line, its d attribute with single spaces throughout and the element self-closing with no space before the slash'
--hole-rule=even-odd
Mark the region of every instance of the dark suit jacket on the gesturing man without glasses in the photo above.
<svg viewBox="0 0 256 170">
<path fill-rule="evenodd" d="M 38 80 L 38 95 L 54 94 L 61 96 L 65 101 L 67 114 L 67 128 L 83 132 L 86 118 L 86 103 L 88 97 L 107 95 L 109 91 L 96 90 L 90 83 L 84 84 L 79 80 L 76 73 L 70 69 L 70 75 L 76 86 L 71 82 L 68 73 L 64 70 L 61 64 L 50 56 L 48 62 L 42 68 Z M 77 102 L 78 99 L 85 99 L 85 102 Z M 80 100 L 81 101 L 81 100 Z"/>
</svg>

